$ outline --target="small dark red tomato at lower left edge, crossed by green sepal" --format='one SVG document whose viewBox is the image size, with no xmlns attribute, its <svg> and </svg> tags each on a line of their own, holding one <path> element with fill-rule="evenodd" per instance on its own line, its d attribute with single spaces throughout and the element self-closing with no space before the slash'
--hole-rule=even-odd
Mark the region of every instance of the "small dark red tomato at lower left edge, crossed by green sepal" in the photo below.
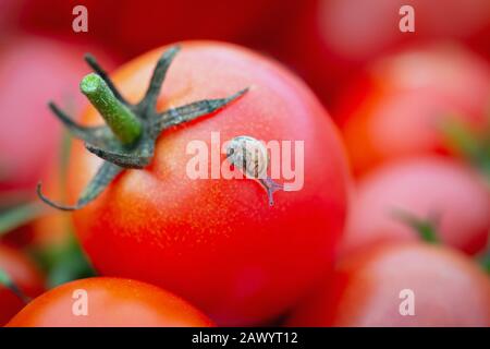
<svg viewBox="0 0 490 349">
<path fill-rule="evenodd" d="M 27 297 L 37 297 L 44 291 L 42 277 L 34 264 L 19 251 L 2 244 L 0 244 L 0 269 Z M 24 305 L 19 296 L 0 285 L 0 326 L 11 320 Z"/>
</svg>

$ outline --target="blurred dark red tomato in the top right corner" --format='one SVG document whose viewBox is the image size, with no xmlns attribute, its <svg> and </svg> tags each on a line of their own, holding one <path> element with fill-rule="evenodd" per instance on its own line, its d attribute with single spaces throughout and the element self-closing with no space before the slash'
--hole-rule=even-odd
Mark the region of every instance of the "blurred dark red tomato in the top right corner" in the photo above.
<svg viewBox="0 0 490 349">
<path fill-rule="evenodd" d="M 415 33 L 400 31 L 402 5 L 415 10 Z M 364 64 L 406 45 L 457 39 L 488 51 L 489 19 L 488 0 L 318 0 L 282 53 L 329 103 Z"/>
</svg>

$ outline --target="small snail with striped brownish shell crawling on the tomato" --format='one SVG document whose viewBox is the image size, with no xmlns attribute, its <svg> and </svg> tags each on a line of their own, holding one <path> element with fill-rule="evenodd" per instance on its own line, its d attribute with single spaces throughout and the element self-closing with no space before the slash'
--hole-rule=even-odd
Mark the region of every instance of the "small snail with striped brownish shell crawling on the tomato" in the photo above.
<svg viewBox="0 0 490 349">
<path fill-rule="evenodd" d="M 266 189 L 269 206 L 272 206 L 274 204 L 272 194 L 284 188 L 267 174 L 270 159 L 266 146 L 254 137 L 240 135 L 228 144 L 226 158 L 247 178 L 257 180 Z"/>
</svg>

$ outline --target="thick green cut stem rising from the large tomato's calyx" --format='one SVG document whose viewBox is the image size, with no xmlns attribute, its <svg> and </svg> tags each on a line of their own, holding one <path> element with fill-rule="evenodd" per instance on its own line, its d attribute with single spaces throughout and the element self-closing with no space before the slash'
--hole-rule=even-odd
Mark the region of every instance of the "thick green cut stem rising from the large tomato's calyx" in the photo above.
<svg viewBox="0 0 490 349">
<path fill-rule="evenodd" d="M 102 77 L 95 73 L 88 74 L 82 80 L 79 88 L 124 145 L 132 145 L 139 139 L 143 131 L 142 123 L 115 98 Z"/>
</svg>

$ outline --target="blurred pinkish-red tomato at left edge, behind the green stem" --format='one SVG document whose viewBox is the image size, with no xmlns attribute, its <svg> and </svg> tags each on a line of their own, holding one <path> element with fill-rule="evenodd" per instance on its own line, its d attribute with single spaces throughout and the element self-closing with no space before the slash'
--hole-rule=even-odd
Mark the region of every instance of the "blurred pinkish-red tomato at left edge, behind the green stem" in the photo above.
<svg viewBox="0 0 490 349">
<path fill-rule="evenodd" d="M 83 53 L 84 47 L 40 37 L 13 37 L 0 48 L 0 194 L 34 194 L 52 166 L 61 128 L 47 103 L 54 99 L 71 110 L 85 103 L 77 93 L 89 71 Z"/>
</svg>

